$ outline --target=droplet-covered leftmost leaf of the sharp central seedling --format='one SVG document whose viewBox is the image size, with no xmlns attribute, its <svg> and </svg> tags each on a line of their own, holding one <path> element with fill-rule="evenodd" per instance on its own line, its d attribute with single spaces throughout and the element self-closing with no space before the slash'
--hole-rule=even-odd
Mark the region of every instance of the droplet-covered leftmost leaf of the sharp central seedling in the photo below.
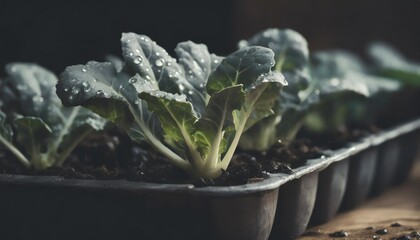
<svg viewBox="0 0 420 240">
<path fill-rule="evenodd" d="M 139 75 L 130 78 L 117 73 L 110 63 L 92 61 L 67 67 L 60 75 L 57 94 L 64 105 L 85 106 L 127 130 L 135 119 L 130 108 L 139 113 L 142 121 L 151 117 L 137 96 L 144 89 L 154 89 L 148 83 Z"/>
</svg>

